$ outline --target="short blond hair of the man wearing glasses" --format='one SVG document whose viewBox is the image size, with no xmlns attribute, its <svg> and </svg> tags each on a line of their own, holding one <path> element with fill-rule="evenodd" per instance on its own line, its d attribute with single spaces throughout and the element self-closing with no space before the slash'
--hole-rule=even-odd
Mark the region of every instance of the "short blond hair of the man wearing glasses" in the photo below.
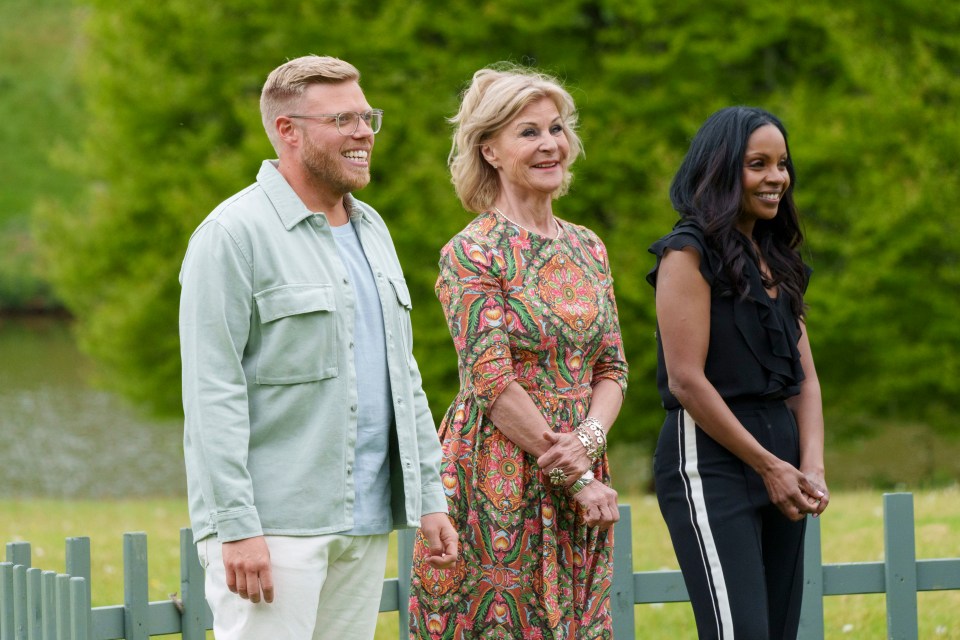
<svg viewBox="0 0 960 640">
<path fill-rule="evenodd" d="M 304 92 L 314 84 L 359 82 L 360 72 L 349 62 L 330 56 L 301 56 L 270 72 L 260 93 L 263 128 L 277 154 L 280 153 L 277 118 L 296 111 Z"/>
</svg>

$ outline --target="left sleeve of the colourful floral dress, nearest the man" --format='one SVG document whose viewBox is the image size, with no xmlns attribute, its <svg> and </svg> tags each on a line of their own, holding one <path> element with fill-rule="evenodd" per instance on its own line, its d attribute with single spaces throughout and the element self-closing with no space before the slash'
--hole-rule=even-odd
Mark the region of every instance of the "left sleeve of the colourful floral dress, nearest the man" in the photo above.
<svg viewBox="0 0 960 640">
<path fill-rule="evenodd" d="M 472 393 L 484 414 L 516 380 L 499 275 L 503 265 L 499 249 L 460 234 L 441 252 L 436 286 L 457 350 L 461 391 Z"/>
</svg>

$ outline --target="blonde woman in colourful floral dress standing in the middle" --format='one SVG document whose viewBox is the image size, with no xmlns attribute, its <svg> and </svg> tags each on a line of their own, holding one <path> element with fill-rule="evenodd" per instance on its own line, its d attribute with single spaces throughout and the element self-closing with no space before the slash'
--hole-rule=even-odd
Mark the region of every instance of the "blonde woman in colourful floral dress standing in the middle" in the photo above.
<svg viewBox="0 0 960 640">
<path fill-rule="evenodd" d="M 626 387 L 603 243 L 554 215 L 580 155 L 554 79 L 482 69 L 449 164 L 479 215 L 443 248 L 437 295 L 460 368 L 440 427 L 461 560 L 414 552 L 411 636 L 609 638 L 617 494 L 606 434 Z"/>
</svg>

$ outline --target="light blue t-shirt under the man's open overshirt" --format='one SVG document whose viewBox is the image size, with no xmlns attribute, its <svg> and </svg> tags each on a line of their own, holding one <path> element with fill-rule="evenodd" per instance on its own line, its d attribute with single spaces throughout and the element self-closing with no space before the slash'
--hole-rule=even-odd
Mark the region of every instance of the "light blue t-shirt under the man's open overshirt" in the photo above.
<svg viewBox="0 0 960 640">
<path fill-rule="evenodd" d="M 377 535 L 393 529 L 390 513 L 390 427 L 393 404 L 387 371 L 383 313 L 373 271 L 352 223 L 330 227 L 357 298 L 353 355 L 357 379 L 356 498 L 353 529 L 346 535 Z"/>
</svg>

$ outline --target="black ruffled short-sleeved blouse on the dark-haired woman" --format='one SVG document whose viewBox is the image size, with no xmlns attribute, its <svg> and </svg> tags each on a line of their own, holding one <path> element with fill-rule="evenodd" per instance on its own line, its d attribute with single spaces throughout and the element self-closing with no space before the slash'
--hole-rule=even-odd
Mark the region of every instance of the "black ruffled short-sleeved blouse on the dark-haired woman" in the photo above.
<svg viewBox="0 0 960 640">
<path fill-rule="evenodd" d="M 750 290 L 746 300 L 732 290 L 720 254 L 707 245 L 703 232 L 692 222 L 681 220 L 673 231 L 650 246 L 657 264 L 647 282 L 657 286 L 657 270 L 667 249 L 693 247 L 700 254 L 700 273 L 710 285 L 710 345 L 704 372 L 727 402 L 774 400 L 800 393 L 803 367 L 800 364 L 800 323 L 790 307 L 789 297 L 771 298 L 763 287 L 760 269 L 747 261 Z M 809 268 L 807 269 L 809 279 Z M 657 387 L 663 407 L 680 406 L 667 386 L 663 344 L 657 331 Z"/>
</svg>

